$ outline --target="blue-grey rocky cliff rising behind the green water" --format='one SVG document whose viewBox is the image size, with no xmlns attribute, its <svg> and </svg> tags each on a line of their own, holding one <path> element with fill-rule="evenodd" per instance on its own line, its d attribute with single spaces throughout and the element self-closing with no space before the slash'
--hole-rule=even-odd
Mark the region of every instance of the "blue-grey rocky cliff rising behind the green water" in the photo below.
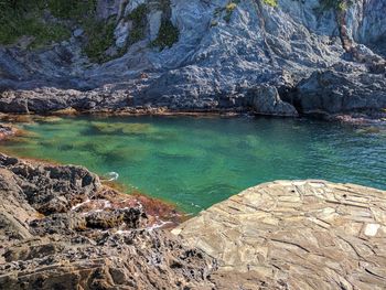
<svg viewBox="0 0 386 290">
<path fill-rule="evenodd" d="M 93 3 L 104 25 L 49 6 L 44 21 L 64 23 L 68 37 L 31 49 L 39 37 L 24 35 L 1 46 L 1 111 L 377 116 L 386 107 L 384 0 Z"/>
</svg>

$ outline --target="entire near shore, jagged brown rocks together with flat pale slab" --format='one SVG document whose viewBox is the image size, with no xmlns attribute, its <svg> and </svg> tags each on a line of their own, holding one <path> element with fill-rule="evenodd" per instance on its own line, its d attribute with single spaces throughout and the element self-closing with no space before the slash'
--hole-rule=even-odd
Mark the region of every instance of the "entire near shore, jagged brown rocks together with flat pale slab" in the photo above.
<svg viewBox="0 0 386 290">
<path fill-rule="evenodd" d="M 168 206 L 85 168 L 0 154 L 0 195 L 4 290 L 386 287 L 386 192 L 375 189 L 266 183 L 170 233 Z"/>
</svg>

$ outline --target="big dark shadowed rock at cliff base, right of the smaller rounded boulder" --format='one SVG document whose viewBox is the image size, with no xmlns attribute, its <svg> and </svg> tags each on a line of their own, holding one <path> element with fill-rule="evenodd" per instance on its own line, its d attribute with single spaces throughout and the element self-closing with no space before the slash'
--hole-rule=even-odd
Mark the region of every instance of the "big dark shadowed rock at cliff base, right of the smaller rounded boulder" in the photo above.
<svg viewBox="0 0 386 290">
<path fill-rule="evenodd" d="M 340 69 L 339 67 L 335 67 Z M 386 108 L 386 78 L 352 68 L 315 72 L 297 86 L 292 101 L 301 112 L 368 112 Z"/>
</svg>

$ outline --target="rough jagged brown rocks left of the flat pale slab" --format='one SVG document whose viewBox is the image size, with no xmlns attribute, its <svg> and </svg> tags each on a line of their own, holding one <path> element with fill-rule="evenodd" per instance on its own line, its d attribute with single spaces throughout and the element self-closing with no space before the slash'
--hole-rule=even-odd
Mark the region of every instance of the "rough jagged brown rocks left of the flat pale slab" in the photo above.
<svg viewBox="0 0 386 290">
<path fill-rule="evenodd" d="M 84 168 L 0 154 L 0 289 L 213 288 L 212 258 Z"/>
</svg>

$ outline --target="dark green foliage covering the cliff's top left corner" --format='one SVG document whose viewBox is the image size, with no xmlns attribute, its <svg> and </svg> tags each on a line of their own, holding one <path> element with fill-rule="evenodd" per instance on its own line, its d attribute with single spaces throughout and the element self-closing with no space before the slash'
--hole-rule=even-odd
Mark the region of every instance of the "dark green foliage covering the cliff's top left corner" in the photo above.
<svg viewBox="0 0 386 290">
<path fill-rule="evenodd" d="M 44 20 L 45 11 L 56 20 Z M 103 62 L 114 43 L 115 24 L 97 21 L 95 11 L 96 0 L 0 0 L 0 44 L 28 35 L 33 40 L 30 49 L 42 47 L 68 39 L 77 24 L 85 30 L 84 52 L 92 61 Z"/>
</svg>

